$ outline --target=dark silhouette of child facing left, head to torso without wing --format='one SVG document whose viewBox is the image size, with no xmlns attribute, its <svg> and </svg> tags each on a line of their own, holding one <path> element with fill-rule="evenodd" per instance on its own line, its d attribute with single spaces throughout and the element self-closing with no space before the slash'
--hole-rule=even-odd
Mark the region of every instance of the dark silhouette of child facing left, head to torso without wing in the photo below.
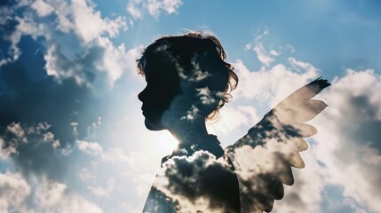
<svg viewBox="0 0 381 213">
<path fill-rule="evenodd" d="M 217 137 L 208 134 L 205 125 L 206 119 L 217 116 L 218 109 L 231 98 L 229 92 L 238 83 L 234 67 L 224 59 L 226 53 L 216 36 L 190 32 L 161 37 L 147 46 L 138 60 L 139 74 L 147 81 L 147 87 L 139 93 L 147 129 L 169 130 L 179 140 L 179 147 L 163 158 L 162 167 L 171 159 L 191 157 L 200 151 L 217 160 L 224 159 L 228 165 L 199 171 L 197 176 L 193 176 L 197 165 L 179 165 L 176 172 L 181 173 L 180 177 L 197 179 L 189 187 L 179 184 L 168 190 L 161 190 L 155 181 L 143 212 L 181 211 L 181 201 L 171 194 L 194 203 L 205 200 L 210 208 L 223 209 L 223 212 L 240 212 L 233 164 L 219 146 Z M 197 205 L 194 204 L 192 212 L 200 211 Z"/>
</svg>

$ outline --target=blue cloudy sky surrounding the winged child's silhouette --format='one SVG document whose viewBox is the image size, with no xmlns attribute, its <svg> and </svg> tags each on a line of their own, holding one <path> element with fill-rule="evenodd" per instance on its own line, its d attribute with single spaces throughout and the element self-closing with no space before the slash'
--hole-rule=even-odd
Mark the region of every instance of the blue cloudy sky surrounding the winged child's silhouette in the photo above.
<svg viewBox="0 0 381 213">
<path fill-rule="evenodd" d="M 0 213 L 141 212 L 175 142 L 144 126 L 136 59 L 210 30 L 240 80 L 218 120 L 232 145 L 322 76 L 329 106 L 273 212 L 381 212 L 381 2 L 20 0 L 0 3 Z"/>
</svg>

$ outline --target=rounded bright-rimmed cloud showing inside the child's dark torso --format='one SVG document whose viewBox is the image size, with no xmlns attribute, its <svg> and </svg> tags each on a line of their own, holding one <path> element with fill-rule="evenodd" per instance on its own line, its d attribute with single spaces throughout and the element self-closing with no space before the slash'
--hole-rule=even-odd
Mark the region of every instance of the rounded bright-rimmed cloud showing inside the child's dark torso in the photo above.
<svg viewBox="0 0 381 213">
<path fill-rule="evenodd" d="M 238 185 L 231 181 L 234 173 L 224 159 L 197 151 L 192 156 L 174 156 L 163 163 L 154 186 L 176 203 L 175 209 L 181 212 L 225 212 L 234 209 L 232 198 L 237 198 L 232 193 L 237 193 L 234 187 Z"/>
</svg>

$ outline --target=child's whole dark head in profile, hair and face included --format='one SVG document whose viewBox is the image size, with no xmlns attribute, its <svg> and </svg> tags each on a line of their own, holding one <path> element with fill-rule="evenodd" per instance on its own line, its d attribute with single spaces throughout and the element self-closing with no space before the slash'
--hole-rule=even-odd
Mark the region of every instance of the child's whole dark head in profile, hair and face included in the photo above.
<svg viewBox="0 0 381 213">
<path fill-rule="evenodd" d="M 224 59 L 216 36 L 191 32 L 150 44 L 138 60 L 139 74 L 147 81 L 139 94 L 147 128 L 165 129 L 163 115 L 167 121 L 216 116 L 238 83 L 234 67 Z"/>
</svg>

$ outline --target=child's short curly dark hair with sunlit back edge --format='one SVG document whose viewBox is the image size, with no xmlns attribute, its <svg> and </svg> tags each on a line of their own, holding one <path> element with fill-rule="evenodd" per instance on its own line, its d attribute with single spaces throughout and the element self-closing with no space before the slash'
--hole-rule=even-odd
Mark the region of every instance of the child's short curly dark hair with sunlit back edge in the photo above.
<svg viewBox="0 0 381 213">
<path fill-rule="evenodd" d="M 220 76 L 220 83 L 216 83 L 216 79 L 210 80 L 208 87 L 216 91 L 218 97 L 218 106 L 206 116 L 207 120 L 213 120 L 218 117 L 218 110 L 229 102 L 233 97 L 230 94 L 238 84 L 238 76 L 234 73 L 234 67 L 225 61 L 226 52 L 222 47 L 221 42 L 217 36 L 212 35 L 210 32 L 196 32 L 190 31 L 187 34 L 179 36 L 162 36 L 151 43 L 142 51 L 142 56 L 137 59 L 139 75 L 145 75 L 145 67 L 148 61 L 154 60 L 157 56 L 157 51 L 175 53 L 176 63 L 185 70 L 194 69 L 192 59 L 196 58 L 194 55 L 207 55 L 205 59 L 198 59 L 201 64 L 202 72 L 209 70 L 214 72 L 214 75 Z M 165 54 L 163 53 L 163 54 Z M 156 57 L 157 58 L 157 57 Z M 169 58 L 169 55 L 166 55 Z M 173 60 L 170 60 L 175 63 Z M 178 67 L 179 69 L 179 67 Z M 216 85 L 217 84 L 217 85 Z"/>
</svg>

